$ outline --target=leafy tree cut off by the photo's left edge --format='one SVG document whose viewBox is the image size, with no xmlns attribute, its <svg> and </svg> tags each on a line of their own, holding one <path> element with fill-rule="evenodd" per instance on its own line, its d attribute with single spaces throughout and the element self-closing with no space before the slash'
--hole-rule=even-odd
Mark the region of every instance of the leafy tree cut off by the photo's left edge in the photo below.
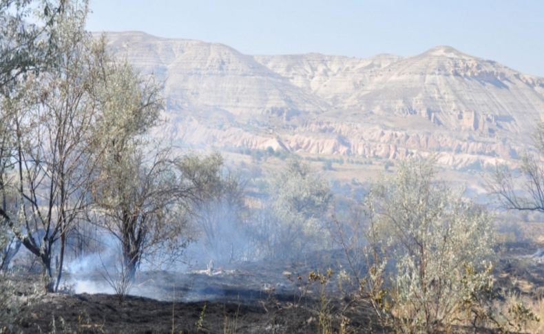
<svg viewBox="0 0 544 334">
<path fill-rule="evenodd" d="M 8 194 L 8 172 L 13 168 L 14 140 L 10 123 L 12 116 L 6 105 L 26 74 L 54 67 L 57 59 L 54 27 L 63 14 L 65 1 L 0 1 L 0 229 L 6 244 L 0 248 L 0 270 L 6 269 L 21 247 L 7 226 L 5 213 L 10 211 L 13 198 Z M 40 14 L 32 15 L 32 8 Z M 27 20 L 32 17 L 34 23 Z M 20 94 L 19 94 L 20 95 Z M 2 214 L 4 213 L 4 214 Z"/>
</svg>

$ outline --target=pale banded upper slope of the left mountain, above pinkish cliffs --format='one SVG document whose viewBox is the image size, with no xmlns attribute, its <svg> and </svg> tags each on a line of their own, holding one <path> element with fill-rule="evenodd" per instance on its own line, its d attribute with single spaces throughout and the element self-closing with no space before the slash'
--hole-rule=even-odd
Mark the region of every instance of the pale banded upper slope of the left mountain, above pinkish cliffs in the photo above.
<svg viewBox="0 0 544 334">
<path fill-rule="evenodd" d="M 107 38 L 114 53 L 165 81 L 171 108 L 251 118 L 275 109 L 318 110 L 324 103 L 227 45 L 131 32 Z"/>
</svg>

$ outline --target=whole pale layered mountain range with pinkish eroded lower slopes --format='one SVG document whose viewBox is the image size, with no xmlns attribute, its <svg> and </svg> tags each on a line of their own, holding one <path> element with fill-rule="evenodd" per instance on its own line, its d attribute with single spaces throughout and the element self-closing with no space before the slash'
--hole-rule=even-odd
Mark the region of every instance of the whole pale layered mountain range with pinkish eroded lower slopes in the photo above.
<svg viewBox="0 0 544 334">
<path fill-rule="evenodd" d="M 217 43 L 107 33 L 164 82 L 167 125 L 190 145 L 364 158 L 515 163 L 544 116 L 544 79 L 437 46 L 417 56 L 250 56 Z"/>
</svg>

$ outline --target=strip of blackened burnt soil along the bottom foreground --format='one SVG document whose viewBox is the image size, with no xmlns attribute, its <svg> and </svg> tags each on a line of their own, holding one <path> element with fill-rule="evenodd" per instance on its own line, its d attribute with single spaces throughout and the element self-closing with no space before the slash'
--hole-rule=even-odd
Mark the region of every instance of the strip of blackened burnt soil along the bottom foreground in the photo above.
<svg viewBox="0 0 544 334">
<path fill-rule="evenodd" d="M 289 298 L 280 298 L 289 299 Z M 53 293 L 20 313 L 23 333 L 318 333 L 320 302 L 280 302 L 271 295 L 251 304 L 160 302 L 115 295 Z M 350 333 L 381 332 L 368 306 L 333 301 L 333 328 L 350 319 Z M 345 320 L 344 320 L 345 321 Z"/>
</svg>

